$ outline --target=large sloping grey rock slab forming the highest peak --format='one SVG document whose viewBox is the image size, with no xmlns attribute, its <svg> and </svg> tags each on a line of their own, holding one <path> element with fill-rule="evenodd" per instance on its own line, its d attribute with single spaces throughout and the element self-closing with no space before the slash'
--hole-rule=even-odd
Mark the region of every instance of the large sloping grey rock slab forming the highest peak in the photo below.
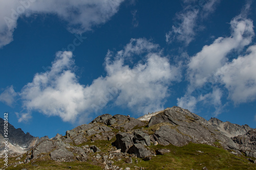
<svg viewBox="0 0 256 170">
<path fill-rule="evenodd" d="M 213 145 L 214 142 L 220 141 L 226 149 L 238 149 L 229 137 L 212 127 L 207 120 L 180 107 L 165 109 L 152 116 L 148 127 L 155 125 L 160 128 L 151 139 L 159 144 L 183 146 L 194 142 Z"/>
</svg>

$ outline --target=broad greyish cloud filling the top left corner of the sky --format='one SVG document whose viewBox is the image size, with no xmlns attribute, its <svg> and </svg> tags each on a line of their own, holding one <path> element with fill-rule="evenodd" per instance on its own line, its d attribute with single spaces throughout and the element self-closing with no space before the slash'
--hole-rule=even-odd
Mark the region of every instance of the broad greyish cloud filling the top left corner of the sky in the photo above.
<svg viewBox="0 0 256 170">
<path fill-rule="evenodd" d="M 0 47 L 13 40 L 17 19 L 32 14 L 56 14 L 71 33 L 81 34 L 108 21 L 124 0 L 9 0 L 0 2 Z"/>
</svg>

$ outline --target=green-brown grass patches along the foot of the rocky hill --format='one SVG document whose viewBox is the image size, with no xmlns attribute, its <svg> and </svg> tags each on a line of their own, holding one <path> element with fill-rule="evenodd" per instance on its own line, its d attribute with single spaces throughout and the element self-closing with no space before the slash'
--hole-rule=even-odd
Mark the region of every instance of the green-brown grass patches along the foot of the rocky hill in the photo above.
<svg viewBox="0 0 256 170">
<path fill-rule="evenodd" d="M 86 144 L 86 143 L 84 143 Z M 89 143 L 87 143 L 89 144 Z M 99 145 L 99 143 L 90 143 Z M 110 149 L 110 142 L 106 145 L 101 144 L 100 148 L 103 151 Z M 157 155 L 153 156 L 150 161 L 143 161 L 140 158 L 132 158 L 133 163 L 127 164 L 123 160 L 115 161 L 115 165 L 122 167 L 131 167 L 135 169 L 134 166 L 145 167 L 146 169 L 202 169 L 206 166 L 208 169 L 256 169 L 256 164 L 250 163 L 246 160 L 245 156 L 234 156 L 228 151 L 211 147 L 206 144 L 195 144 L 189 143 L 184 147 L 175 147 L 174 145 L 151 145 L 149 147 L 151 150 L 156 149 L 169 149 L 171 152 L 163 156 Z M 199 153 L 197 151 L 202 151 L 204 153 Z M 91 155 L 93 156 L 93 155 Z M 23 157 L 23 159 L 25 156 Z M 22 160 L 23 160 L 22 159 Z M 138 160 L 138 163 L 135 163 L 135 160 Z M 9 162 L 17 162 L 14 158 L 10 158 Z M 33 166 L 36 164 L 38 166 Z M 68 166 L 72 166 L 71 169 L 102 169 L 102 163 L 89 160 L 88 162 L 55 162 L 50 159 L 49 154 L 46 154 L 44 157 L 39 158 L 36 162 L 28 164 L 20 164 L 17 167 L 8 167 L 6 169 L 70 169 Z M 0 167 L 4 165 L 3 160 L 1 160 Z"/>
</svg>

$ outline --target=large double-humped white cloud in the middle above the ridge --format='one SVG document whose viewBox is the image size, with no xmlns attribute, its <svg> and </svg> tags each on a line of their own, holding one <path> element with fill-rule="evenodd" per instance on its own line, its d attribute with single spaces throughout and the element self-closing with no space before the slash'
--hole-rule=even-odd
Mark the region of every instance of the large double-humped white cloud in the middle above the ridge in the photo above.
<svg viewBox="0 0 256 170">
<path fill-rule="evenodd" d="M 143 56 L 138 60 L 138 56 Z M 134 63 L 135 62 L 135 63 Z M 131 63 L 131 64 L 127 64 Z M 79 115 L 104 108 L 109 103 L 136 110 L 138 114 L 163 109 L 169 85 L 180 81 L 180 66 L 170 65 L 159 45 L 146 39 L 131 39 L 123 50 L 108 52 L 105 77 L 81 85 L 72 71 L 71 52 L 58 52 L 49 71 L 38 73 L 23 87 L 20 97 L 28 112 L 60 116 L 74 122 Z"/>
</svg>

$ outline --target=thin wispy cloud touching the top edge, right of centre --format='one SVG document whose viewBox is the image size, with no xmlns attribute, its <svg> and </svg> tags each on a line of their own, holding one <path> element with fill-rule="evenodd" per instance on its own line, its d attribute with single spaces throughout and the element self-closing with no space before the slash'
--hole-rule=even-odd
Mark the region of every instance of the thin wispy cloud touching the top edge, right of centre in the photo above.
<svg viewBox="0 0 256 170">
<path fill-rule="evenodd" d="M 183 2 L 185 3 L 185 8 L 176 14 L 172 29 L 165 34 L 166 42 L 168 43 L 178 40 L 188 45 L 193 41 L 196 32 L 201 27 L 197 21 L 200 18 L 206 18 L 210 13 L 214 12 L 219 0 L 210 0 L 207 3 L 199 1 L 198 4 L 195 4 L 196 1 L 185 0 Z"/>
</svg>

